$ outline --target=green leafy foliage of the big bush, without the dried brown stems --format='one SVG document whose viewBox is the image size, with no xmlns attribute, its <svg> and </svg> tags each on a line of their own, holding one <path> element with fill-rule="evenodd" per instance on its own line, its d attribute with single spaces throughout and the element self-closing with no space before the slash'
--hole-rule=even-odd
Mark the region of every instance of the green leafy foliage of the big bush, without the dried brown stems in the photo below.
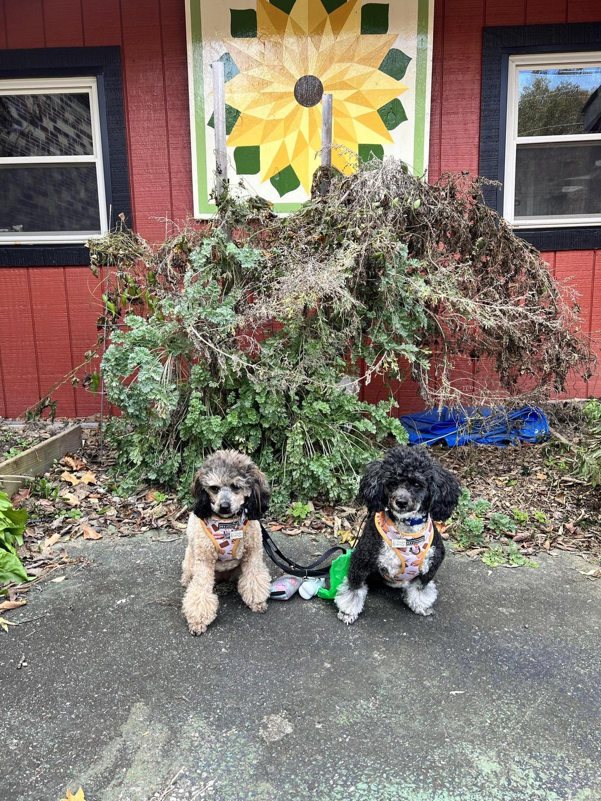
<svg viewBox="0 0 601 801">
<path fill-rule="evenodd" d="M 408 267 L 401 252 L 397 272 L 381 276 L 386 292 Z M 287 276 L 270 273 L 259 248 L 238 248 L 219 233 L 193 248 L 179 286 L 153 301 L 149 315 L 126 316 L 103 358 L 107 396 L 122 413 L 109 435 L 124 489 L 149 480 L 184 493 L 208 453 L 233 448 L 264 469 L 276 505 L 353 497 L 385 437 L 407 439 L 393 400 L 359 400 L 353 364 L 373 361 L 376 348 L 379 358 L 388 348 L 390 363 L 408 352 L 418 311 L 382 298 L 378 308 L 373 287 L 361 308 L 347 277 L 341 268 L 335 297 L 320 308 L 325 292 L 314 285 L 300 300 L 283 296 Z M 376 314 L 368 341 L 363 328 Z"/>
</svg>

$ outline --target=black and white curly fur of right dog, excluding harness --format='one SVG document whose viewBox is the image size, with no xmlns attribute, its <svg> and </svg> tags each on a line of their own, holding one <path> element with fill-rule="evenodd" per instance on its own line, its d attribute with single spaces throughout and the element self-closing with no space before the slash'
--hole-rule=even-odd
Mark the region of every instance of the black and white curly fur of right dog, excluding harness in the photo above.
<svg viewBox="0 0 601 801">
<path fill-rule="evenodd" d="M 361 614 L 367 595 L 366 580 L 371 574 L 379 574 L 381 567 L 395 570 L 400 565 L 397 554 L 376 528 L 375 513 L 385 511 L 393 523 L 411 533 L 412 527 L 403 525 L 403 521 L 420 513 L 429 513 L 433 521 L 444 521 L 457 506 L 459 493 L 457 479 L 437 465 L 423 447 L 397 445 L 383 459 L 367 465 L 359 485 L 359 500 L 367 506 L 368 519 L 351 556 L 349 575 L 334 599 L 341 621 L 348 625 Z M 445 546 L 434 525 L 434 539 L 420 574 L 409 582 L 386 584 L 401 589 L 403 600 L 413 612 L 432 614 L 438 595 L 434 576 L 444 557 Z"/>
</svg>

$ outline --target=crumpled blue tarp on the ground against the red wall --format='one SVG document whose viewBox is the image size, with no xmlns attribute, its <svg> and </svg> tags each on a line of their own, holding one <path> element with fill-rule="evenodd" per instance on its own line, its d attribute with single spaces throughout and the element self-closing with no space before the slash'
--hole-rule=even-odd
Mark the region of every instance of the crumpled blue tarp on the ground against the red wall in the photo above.
<svg viewBox="0 0 601 801">
<path fill-rule="evenodd" d="M 470 407 L 459 411 L 443 406 L 430 412 L 406 414 L 401 423 L 409 433 L 410 445 L 433 445 L 444 440 L 450 447 L 473 442 L 506 448 L 518 442 L 543 442 L 549 437 L 547 417 L 535 406 L 515 412 Z"/>
</svg>

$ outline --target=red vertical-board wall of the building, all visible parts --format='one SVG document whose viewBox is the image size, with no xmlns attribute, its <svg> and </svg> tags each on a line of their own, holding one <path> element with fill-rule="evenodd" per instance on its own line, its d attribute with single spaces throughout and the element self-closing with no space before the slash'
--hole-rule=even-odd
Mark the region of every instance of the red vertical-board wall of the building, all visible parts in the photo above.
<svg viewBox="0 0 601 801">
<path fill-rule="evenodd" d="M 478 172 L 482 26 L 599 20 L 599 0 L 435 0 L 430 178 Z M 184 0 L 0 0 L 0 48 L 94 45 L 122 48 L 134 223 L 162 238 L 158 218 L 192 212 Z M 545 256 L 557 276 L 575 276 L 585 330 L 601 329 L 601 249 Z M 0 416 L 22 414 L 83 361 L 97 336 L 98 283 L 84 265 L 0 268 Z M 465 378 L 478 380 L 470 364 Z M 571 391 L 601 394 L 601 380 Z M 364 394 L 385 390 L 373 381 Z M 396 395 L 402 412 L 422 408 L 410 382 Z M 61 416 L 98 411 L 70 384 L 55 397 Z"/>
</svg>

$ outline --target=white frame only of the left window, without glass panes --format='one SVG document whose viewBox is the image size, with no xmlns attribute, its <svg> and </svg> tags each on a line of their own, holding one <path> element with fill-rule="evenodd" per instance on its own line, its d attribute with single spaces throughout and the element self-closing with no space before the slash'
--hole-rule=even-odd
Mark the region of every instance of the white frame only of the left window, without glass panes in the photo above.
<svg viewBox="0 0 601 801">
<path fill-rule="evenodd" d="M 107 233 L 107 198 L 104 186 L 103 148 L 96 78 L 14 78 L 0 80 L 0 95 L 38 95 L 41 92 L 45 95 L 63 95 L 70 92 L 83 94 L 82 90 L 87 91 L 90 97 L 90 115 L 92 123 L 91 155 L 4 156 L 0 158 L 0 166 L 2 166 L 2 164 L 21 164 L 24 166 L 27 164 L 95 164 L 100 231 L 22 233 L 18 235 L 18 237 L 15 235 L 14 231 L 0 231 L 0 245 L 84 244 L 87 242 L 87 239 Z"/>
</svg>

